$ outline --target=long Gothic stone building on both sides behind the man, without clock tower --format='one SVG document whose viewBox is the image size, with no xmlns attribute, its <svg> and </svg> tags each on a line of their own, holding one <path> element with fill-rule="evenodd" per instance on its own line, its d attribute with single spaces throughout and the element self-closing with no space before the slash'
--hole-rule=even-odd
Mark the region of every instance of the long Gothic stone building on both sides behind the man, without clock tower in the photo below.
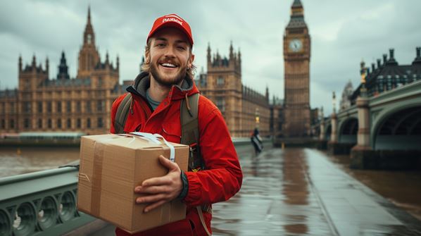
<svg viewBox="0 0 421 236">
<path fill-rule="evenodd" d="M 108 132 L 111 105 L 132 81 L 119 83 L 119 58 L 101 61 L 88 8 L 87 24 L 78 56 L 77 75 L 71 78 L 64 51 L 56 78 L 49 77 L 49 60 L 42 66 L 33 56 L 30 65 L 18 59 L 18 89 L 0 91 L 0 134 L 18 132 Z M 279 135 L 282 104 L 268 88 L 265 94 L 241 82 L 241 53 L 230 46 L 229 58 L 208 46 L 208 71 L 196 80 L 201 93 L 211 99 L 225 118 L 232 137 L 249 137 L 258 127 L 260 135 Z"/>
</svg>

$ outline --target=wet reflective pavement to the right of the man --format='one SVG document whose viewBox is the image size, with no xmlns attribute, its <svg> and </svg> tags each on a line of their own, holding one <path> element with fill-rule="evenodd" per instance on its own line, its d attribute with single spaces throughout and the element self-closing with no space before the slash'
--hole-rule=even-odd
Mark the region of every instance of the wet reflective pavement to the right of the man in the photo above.
<svg viewBox="0 0 421 236">
<path fill-rule="evenodd" d="M 213 205 L 213 235 L 421 235 L 421 222 L 314 149 L 241 154 L 241 191 Z"/>
</svg>

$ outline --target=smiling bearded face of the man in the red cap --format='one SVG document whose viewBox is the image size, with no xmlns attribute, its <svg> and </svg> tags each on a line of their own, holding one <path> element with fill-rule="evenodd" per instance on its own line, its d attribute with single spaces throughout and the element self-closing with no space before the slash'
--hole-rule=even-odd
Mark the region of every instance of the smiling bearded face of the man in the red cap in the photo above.
<svg viewBox="0 0 421 236">
<path fill-rule="evenodd" d="M 166 87 L 180 85 L 194 60 L 190 47 L 187 36 L 177 28 L 163 28 L 153 34 L 151 48 L 145 55 L 149 58 L 151 79 Z"/>
</svg>

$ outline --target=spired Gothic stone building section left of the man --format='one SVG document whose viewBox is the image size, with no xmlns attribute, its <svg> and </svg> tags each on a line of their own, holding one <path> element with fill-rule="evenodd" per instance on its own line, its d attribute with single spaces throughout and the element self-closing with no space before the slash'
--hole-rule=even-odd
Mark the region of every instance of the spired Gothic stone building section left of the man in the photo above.
<svg viewBox="0 0 421 236">
<path fill-rule="evenodd" d="M 88 9 L 77 76 L 70 78 L 64 52 L 56 78 L 45 65 L 32 58 L 30 65 L 18 61 L 18 89 L 0 91 L 0 132 L 84 132 L 109 130 L 111 105 L 124 91 L 119 85 L 119 61 L 106 54 L 101 61 Z"/>
</svg>

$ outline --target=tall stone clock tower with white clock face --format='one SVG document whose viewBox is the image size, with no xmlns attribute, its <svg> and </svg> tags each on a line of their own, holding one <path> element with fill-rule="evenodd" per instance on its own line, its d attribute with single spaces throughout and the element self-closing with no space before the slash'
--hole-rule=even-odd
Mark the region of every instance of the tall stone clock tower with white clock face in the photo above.
<svg viewBox="0 0 421 236">
<path fill-rule="evenodd" d="M 284 137 L 310 132 L 310 35 L 303 5 L 294 0 L 284 32 Z"/>
</svg>

